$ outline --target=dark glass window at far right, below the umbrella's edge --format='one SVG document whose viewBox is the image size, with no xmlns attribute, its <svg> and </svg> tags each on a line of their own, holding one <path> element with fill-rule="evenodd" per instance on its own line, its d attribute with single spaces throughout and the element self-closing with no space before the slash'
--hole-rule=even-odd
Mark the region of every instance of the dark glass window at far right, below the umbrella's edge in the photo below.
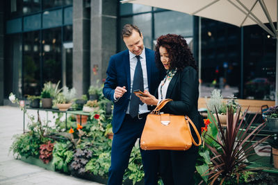
<svg viewBox="0 0 278 185">
<path fill-rule="evenodd" d="M 275 100 L 276 40 L 259 26 L 244 28 L 244 98 Z"/>
</svg>

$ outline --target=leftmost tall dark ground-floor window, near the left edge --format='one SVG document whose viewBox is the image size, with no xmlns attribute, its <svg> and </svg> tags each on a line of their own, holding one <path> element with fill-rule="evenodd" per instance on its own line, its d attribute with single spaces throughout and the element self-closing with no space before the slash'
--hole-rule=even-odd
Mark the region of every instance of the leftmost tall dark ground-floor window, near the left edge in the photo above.
<svg viewBox="0 0 278 185">
<path fill-rule="evenodd" d="M 7 35 L 4 58 L 4 96 L 22 97 L 22 35 Z"/>
</svg>

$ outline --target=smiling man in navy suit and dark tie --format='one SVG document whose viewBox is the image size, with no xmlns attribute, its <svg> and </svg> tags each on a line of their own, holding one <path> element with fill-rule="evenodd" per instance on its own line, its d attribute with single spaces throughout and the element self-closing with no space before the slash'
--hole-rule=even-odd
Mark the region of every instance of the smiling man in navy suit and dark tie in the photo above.
<svg viewBox="0 0 278 185">
<path fill-rule="evenodd" d="M 133 91 L 147 89 L 154 94 L 161 81 L 154 62 L 154 51 L 146 49 L 137 26 L 124 25 L 122 38 L 128 50 L 113 55 L 106 71 L 103 93 L 114 102 L 113 143 L 108 184 L 122 184 L 129 165 L 131 150 L 140 138 L 149 109 Z M 157 184 L 158 152 L 140 150 L 145 171 L 145 184 Z"/>
</svg>

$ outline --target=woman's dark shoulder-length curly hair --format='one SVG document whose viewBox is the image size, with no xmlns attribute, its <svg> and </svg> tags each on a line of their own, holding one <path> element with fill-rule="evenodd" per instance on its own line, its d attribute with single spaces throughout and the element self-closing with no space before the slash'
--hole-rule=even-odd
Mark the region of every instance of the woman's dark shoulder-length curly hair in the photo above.
<svg viewBox="0 0 278 185">
<path fill-rule="evenodd" d="M 159 48 L 163 46 L 169 54 L 170 69 L 176 69 L 178 71 L 183 70 L 185 67 L 193 67 L 198 71 L 197 64 L 193 58 L 193 54 L 188 48 L 186 39 L 183 39 L 181 35 L 167 34 L 158 37 L 155 49 L 156 66 L 158 69 L 164 69 L 161 62 L 161 54 Z"/>
</svg>

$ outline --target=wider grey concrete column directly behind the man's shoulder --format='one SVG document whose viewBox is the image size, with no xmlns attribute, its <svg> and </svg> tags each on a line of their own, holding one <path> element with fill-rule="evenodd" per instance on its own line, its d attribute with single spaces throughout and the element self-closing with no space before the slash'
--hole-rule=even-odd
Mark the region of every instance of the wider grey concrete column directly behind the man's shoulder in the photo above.
<svg viewBox="0 0 278 185">
<path fill-rule="evenodd" d="M 117 47 L 117 1 L 91 0 L 90 85 L 106 78 Z"/>
</svg>

